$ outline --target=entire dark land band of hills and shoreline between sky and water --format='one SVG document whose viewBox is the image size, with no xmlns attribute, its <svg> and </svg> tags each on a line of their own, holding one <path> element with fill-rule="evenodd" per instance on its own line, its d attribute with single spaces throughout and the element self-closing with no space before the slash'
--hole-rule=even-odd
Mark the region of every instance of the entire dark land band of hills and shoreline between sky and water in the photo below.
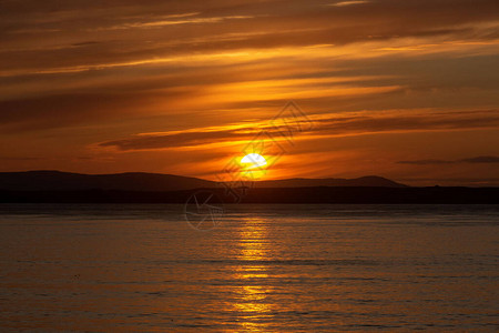
<svg viewBox="0 0 499 333">
<path fill-rule="evenodd" d="M 226 203 L 221 184 L 157 173 L 79 174 L 59 171 L 0 172 L 1 203 L 185 203 L 211 189 Z M 410 188 L 379 176 L 263 181 L 243 203 L 488 203 L 499 204 L 499 188 Z"/>
</svg>

